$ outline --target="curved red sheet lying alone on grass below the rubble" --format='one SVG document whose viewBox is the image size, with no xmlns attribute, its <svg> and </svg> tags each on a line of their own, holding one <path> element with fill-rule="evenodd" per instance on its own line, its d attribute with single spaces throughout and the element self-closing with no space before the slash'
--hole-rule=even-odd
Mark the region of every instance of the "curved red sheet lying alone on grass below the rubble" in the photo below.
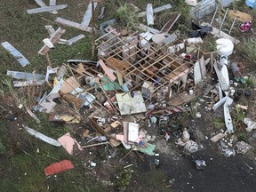
<svg viewBox="0 0 256 192">
<path fill-rule="evenodd" d="M 64 172 L 69 169 L 73 169 L 74 164 L 72 164 L 71 161 L 69 160 L 63 160 L 61 162 L 56 162 L 54 164 L 50 164 L 44 169 L 44 174 L 46 176 L 52 175 L 52 174 L 57 174 L 59 172 Z"/>
</svg>

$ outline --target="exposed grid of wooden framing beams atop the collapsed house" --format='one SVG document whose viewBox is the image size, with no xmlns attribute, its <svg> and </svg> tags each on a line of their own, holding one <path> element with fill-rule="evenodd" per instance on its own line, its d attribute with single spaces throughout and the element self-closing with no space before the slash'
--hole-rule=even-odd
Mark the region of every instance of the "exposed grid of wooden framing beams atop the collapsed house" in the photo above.
<svg viewBox="0 0 256 192">
<path fill-rule="evenodd" d="M 179 15 L 172 22 L 177 18 Z M 164 32 L 171 27 L 172 23 L 164 28 Z M 109 79 L 122 85 L 124 92 L 137 91 L 148 81 L 154 84 L 151 96 L 157 97 L 166 86 L 186 84 L 189 66 L 192 65 L 188 61 L 180 60 L 177 55 L 166 52 L 168 44 L 159 46 L 149 42 L 147 36 L 139 36 L 138 33 L 121 38 L 112 31 L 96 42 L 99 40 L 102 41 L 98 46 L 100 66 Z M 113 71 L 116 71 L 115 75 Z M 132 86 L 127 86 L 127 81 Z"/>
</svg>

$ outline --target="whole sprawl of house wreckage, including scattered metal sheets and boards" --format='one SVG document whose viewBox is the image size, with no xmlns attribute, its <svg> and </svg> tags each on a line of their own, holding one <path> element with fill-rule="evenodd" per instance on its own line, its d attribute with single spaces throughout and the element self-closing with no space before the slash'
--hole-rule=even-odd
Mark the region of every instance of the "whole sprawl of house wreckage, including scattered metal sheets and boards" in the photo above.
<svg viewBox="0 0 256 192">
<path fill-rule="evenodd" d="M 41 8 L 28 13 L 56 13 L 57 9 L 65 8 L 64 5 L 51 4 L 52 1 L 50 6 L 41 1 L 36 2 L 40 3 Z M 198 4 L 196 1 L 186 3 L 192 6 Z M 96 6 L 97 3 L 88 5 L 81 23 L 60 17 L 55 21 L 90 32 L 92 28 L 89 23 L 93 7 L 95 9 Z M 147 25 L 154 25 L 153 14 L 171 8 L 171 4 L 155 9 L 152 4 L 148 4 L 147 11 L 140 12 L 138 17 L 146 16 Z M 197 25 L 196 22 L 192 23 L 191 36 L 180 40 L 180 31 L 175 30 L 169 34 L 179 18 L 180 14 L 174 14 L 161 30 L 140 24 L 140 32 L 130 31 L 125 35 L 116 28 L 116 20 L 108 20 L 100 24 L 101 36 L 95 40 L 98 60 L 68 60 L 57 68 L 52 68 L 51 61 L 48 60 L 45 75 L 8 70 L 6 75 L 15 79 L 14 87 L 47 84 L 44 92 L 36 95 L 36 105 L 33 108 L 26 107 L 28 114 L 38 124 L 40 120 L 36 113 L 44 112 L 49 114 L 48 120 L 52 123 L 83 125 L 79 127 L 79 141 L 69 132 L 58 140 L 53 140 L 27 126 L 24 129 L 53 146 L 62 146 L 71 156 L 80 153 L 83 148 L 101 145 L 113 148 L 123 146 L 130 151 L 136 151 L 138 156 L 138 151 L 148 156 L 156 156 L 154 141 L 159 138 L 166 142 L 174 140 L 181 150 L 191 154 L 200 151 L 200 140 L 196 140 L 189 132 L 193 129 L 192 126 L 175 124 L 172 118 L 179 116 L 179 113 L 192 114 L 192 110 L 195 110 L 193 116 L 191 115 L 193 121 L 200 121 L 204 113 L 197 111 L 197 108 L 204 103 L 206 112 L 212 113 L 213 109 L 214 114 L 224 118 L 227 129 L 214 132 L 210 140 L 214 143 L 220 141 L 224 156 L 235 156 L 236 152 L 245 154 L 252 146 L 243 141 L 237 142 L 235 152 L 234 133 L 237 127 L 232 114 L 239 96 L 244 94 L 249 98 L 252 95 L 252 89 L 241 91 L 242 84 L 246 82 L 243 63 L 231 59 L 234 44 L 239 44 L 239 41 L 229 36 L 229 33 L 222 32 L 221 27 L 214 28 L 212 23 Z M 214 18 L 215 14 L 212 20 Z M 60 38 L 65 29 L 55 30 L 51 25 L 45 28 L 50 37 L 44 38 L 44 46 L 38 54 L 46 57 L 57 42 L 71 45 L 84 38 L 84 35 L 79 35 L 65 40 Z M 215 58 L 213 52 L 204 52 L 201 49 L 205 44 L 203 39 L 211 34 L 217 36 Z M 21 66 L 29 64 L 12 44 L 5 42 L 2 45 L 12 55 L 19 57 Z M 212 77 L 213 68 L 216 76 Z M 214 81 L 210 84 L 212 78 Z M 200 99 L 201 103 L 196 102 L 195 106 L 188 108 L 188 104 L 199 96 L 207 101 Z M 247 106 L 239 103 L 236 108 L 247 110 Z M 250 118 L 244 117 L 242 121 L 248 126 L 247 132 L 256 128 L 255 122 Z M 141 156 L 140 158 L 142 159 Z M 72 163 L 64 163 L 50 165 L 55 168 L 45 168 L 45 174 L 51 175 L 74 167 Z M 96 164 L 97 162 L 91 161 L 89 166 L 95 167 Z M 159 164 L 158 158 L 155 158 L 154 164 Z M 205 161 L 199 159 L 195 164 L 196 169 L 204 169 L 206 166 Z"/>
</svg>

